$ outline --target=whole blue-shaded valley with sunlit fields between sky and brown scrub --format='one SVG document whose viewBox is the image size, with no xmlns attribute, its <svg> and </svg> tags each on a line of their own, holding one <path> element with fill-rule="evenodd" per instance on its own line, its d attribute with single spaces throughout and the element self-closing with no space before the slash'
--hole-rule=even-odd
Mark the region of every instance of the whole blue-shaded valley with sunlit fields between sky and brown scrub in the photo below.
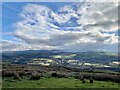
<svg viewBox="0 0 120 90">
<path fill-rule="evenodd" d="M 62 52 L 58 50 L 30 50 L 4 52 L 2 61 L 5 64 L 56 65 L 80 69 L 107 69 L 119 71 L 120 60 L 112 52 Z"/>
</svg>

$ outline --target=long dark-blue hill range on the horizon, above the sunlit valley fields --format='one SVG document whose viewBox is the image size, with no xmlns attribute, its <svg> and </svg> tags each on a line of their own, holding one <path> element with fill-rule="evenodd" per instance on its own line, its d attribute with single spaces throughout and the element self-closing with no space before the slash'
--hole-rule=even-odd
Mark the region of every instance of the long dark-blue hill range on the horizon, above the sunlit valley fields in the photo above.
<svg viewBox="0 0 120 90">
<path fill-rule="evenodd" d="M 57 58 L 56 58 L 57 57 Z M 7 51 L 2 53 L 4 63 L 28 63 L 34 58 L 79 60 L 88 63 L 109 63 L 118 61 L 118 54 L 113 52 L 64 52 L 59 50 L 28 50 L 28 51 Z"/>
</svg>

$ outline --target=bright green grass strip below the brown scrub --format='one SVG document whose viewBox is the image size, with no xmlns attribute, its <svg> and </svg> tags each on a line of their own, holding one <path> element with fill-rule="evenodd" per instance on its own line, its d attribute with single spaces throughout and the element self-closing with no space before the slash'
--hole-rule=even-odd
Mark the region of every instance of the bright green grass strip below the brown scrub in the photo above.
<svg viewBox="0 0 120 90">
<path fill-rule="evenodd" d="M 94 81 L 93 84 L 86 80 L 74 78 L 41 78 L 39 80 L 22 79 L 13 80 L 10 78 L 3 79 L 3 88 L 118 88 L 118 83 Z"/>
</svg>

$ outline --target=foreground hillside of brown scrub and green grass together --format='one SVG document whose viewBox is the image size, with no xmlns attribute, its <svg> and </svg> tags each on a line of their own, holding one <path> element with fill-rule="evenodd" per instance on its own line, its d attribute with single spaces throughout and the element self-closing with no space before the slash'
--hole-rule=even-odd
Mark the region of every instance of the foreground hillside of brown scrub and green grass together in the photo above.
<svg viewBox="0 0 120 90">
<path fill-rule="evenodd" d="M 62 66 L 3 65 L 3 88 L 118 88 L 119 73 Z"/>
</svg>

